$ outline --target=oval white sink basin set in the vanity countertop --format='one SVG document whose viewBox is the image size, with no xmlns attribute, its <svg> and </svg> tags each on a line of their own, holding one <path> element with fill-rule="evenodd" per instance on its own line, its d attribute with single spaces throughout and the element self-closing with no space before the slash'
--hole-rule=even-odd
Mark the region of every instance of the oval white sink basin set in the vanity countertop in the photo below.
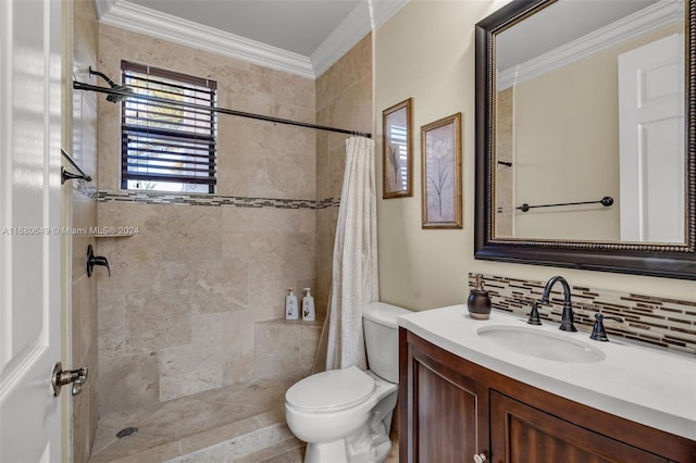
<svg viewBox="0 0 696 463">
<path fill-rule="evenodd" d="M 558 362 L 599 362 L 602 351 L 562 331 L 551 333 L 518 326 L 484 326 L 476 330 L 484 339 L 512 352 Z"/>
</svg>

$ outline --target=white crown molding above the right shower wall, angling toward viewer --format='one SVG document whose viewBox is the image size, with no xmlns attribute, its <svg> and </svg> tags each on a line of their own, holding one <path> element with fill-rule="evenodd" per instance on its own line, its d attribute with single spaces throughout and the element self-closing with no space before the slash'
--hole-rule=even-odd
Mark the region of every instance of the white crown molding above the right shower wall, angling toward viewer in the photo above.
<svg viewBox="0 0 696 463">
<path fill-rule="evenodd" d="M 368 0 L 360 2 L 343 23 L 334 29 L 316 50 L 310 60 L 314 75 L 321 76 L 336 61 L 346 54 L 356 43 L 376 29 L 403 7 L 408 0 Z M 372 13 L 370 7 L 372 5 Z M 372 24 L 374 22 L 374 25 Z"/>
</svg>

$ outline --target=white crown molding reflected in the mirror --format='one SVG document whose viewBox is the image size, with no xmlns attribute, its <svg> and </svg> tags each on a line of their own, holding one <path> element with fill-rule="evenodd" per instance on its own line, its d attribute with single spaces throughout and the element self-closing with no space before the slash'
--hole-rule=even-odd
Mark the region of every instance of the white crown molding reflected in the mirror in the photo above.
<svg viewBox="0 0 696 463">
<path fill-rule="evenodd" d="M 532 60 L 500 71 L 496 77 L 496 88 L 505 90 L 513 85 L 522 84 L 614 45 L 659 29 L 683 17 L 683 15 L 684 11 L 680 2 L 666 0 L 655 3 Z"/>
</svg>

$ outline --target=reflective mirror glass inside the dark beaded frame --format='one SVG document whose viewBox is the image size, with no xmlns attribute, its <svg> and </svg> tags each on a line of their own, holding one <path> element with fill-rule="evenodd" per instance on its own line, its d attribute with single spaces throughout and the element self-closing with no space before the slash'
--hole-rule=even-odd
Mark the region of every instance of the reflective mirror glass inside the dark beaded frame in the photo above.
<svg viewBox="0 0 696 463">
<path fill-rule="evenodd" d="M 683 43 L 663 0 L 560 0 L 496 34 L 496 237 L 684 243 Z"/>
</svg>

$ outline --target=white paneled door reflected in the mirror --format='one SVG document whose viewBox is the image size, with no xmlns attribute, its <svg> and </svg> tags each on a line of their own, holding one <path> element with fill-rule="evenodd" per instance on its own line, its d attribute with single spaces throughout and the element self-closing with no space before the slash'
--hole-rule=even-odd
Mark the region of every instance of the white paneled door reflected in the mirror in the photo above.
<svg viewBox="0 0 696 463">
<path fill-rule="evenodd" d="M 619 57 L 621 240 L 684 242 L 684 36 Z"/>
</svg>

